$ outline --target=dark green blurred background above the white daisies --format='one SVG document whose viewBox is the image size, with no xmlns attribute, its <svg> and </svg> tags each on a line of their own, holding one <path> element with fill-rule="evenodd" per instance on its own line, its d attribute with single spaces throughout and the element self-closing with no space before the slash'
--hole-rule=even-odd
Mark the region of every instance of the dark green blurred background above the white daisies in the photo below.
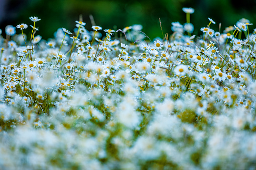
<svg viewBox="0 0 256 170">
<path fill-rule="evenodd" d="M 97 26 L 103 29 L 123 29 L 134 24 L 141 24 L 142 31 L 149 38 L 162 37 L 159 18 L 163 33 L 172 33 L 172 22 L 186 23 L 183 7 L 195 9 L 191 15 L 191 23 L 195 27 L 194 34 L 201 35 L 201 27 L 209 24 L 208 17 L 216 22 L 211 25 L 215 31 L 221 32 L 225 27 L 233 26 L 241 18 L 246 18 L 256 25 L 256 0 L 159 0 L 159 1 L 120 1 L 120 0 L 0 0 L 0 29 L 5 37 L 7 25 L 32 25 L 29 17 L 38 17 L 36 23 L 43 39 L 53 37 L 53 33 L 61 27 L 73 31 L 75 21 L 82 15 L 86 29 L 91 31 L 90 15 Z M 17 30 L 17 29 L 16 29 Z M 18 30 L 17 30 L 18 31 Z M 24 33 L 28 34 L 29 29 Z M 18 31 L 19 33 L 19 31 Z"/>
</svg>

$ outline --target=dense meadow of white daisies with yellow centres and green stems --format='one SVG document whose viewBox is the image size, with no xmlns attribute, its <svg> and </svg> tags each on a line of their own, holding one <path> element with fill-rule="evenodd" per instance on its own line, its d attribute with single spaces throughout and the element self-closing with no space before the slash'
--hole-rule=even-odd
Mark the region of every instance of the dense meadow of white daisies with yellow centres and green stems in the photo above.
<svg viewBox="0 0 256 170">
<path fill-rule="evenodd" d="M 182 10 L 154 39 L 82 19 L 47 41 L 38 17 L 0 30 L 0 169 L 255 169 L 256 29 L 206 18 L 195 36 Z"/>
</svg>

